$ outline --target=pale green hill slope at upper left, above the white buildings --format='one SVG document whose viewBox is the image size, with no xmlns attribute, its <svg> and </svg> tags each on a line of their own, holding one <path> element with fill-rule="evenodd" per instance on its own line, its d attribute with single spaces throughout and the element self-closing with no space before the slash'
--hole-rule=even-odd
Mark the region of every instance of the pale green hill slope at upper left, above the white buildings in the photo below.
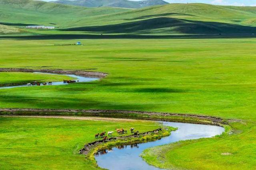
<svg viewBox="0 0 256 170">
<path fill-rule="evenodd" d="M 124 8 L 85 8 L 35 0 L 0 0 L 0 22 L 7 25 L 78 26 L 83 18 L 124 12 Z"/>
</svg>

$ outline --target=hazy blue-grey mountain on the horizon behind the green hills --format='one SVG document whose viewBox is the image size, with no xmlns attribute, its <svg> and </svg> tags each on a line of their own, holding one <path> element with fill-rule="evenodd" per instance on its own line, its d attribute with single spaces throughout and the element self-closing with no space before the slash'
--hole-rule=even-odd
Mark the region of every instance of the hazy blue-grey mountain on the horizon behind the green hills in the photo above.
<svg viewBox="0 0 256 170">
<path fill-rule="evenodd" d="M 169 4 L 163 0 L 142 0 L 142 1 L 130 1 L 130 0 L 57 0 L 53 1 L 58 4 L 67 4 L 74 6 L 87 6 L 87 7 L 100 7 L 100 6 L 112 6 L 119 8 L 143 8 L 146 6 L 165 5 Z"/>
</svg>

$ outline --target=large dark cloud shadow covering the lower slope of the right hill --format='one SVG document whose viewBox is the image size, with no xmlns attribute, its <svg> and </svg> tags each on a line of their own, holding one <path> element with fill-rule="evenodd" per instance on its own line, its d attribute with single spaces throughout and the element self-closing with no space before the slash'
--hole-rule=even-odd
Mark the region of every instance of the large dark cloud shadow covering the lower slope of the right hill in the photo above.
<svg viewBox="0 0 256 170">
<path fill-rule="evenodd" d="M 192 21 L 168 17 L 151 18 L 147 20 L 61 29 L 62 31 L 90 31 L 101 33 L 151 33 L 154 29 L 162 29 L 162 33 L 183 34 L 237 34 L 255 33 L 256 27 L 231 23 Z"/>
</svg>

